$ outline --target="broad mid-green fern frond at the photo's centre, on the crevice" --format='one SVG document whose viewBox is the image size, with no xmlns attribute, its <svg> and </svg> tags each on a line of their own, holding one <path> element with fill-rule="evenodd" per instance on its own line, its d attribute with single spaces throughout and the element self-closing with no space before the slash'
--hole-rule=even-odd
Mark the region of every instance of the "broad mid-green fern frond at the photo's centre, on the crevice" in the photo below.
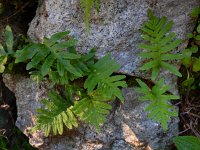
<svg viewBox="0 0 200 150">
<path fill-rule="evenodd" d="M 97 90 L 106 94 L 108 97 L 118 97 L 120 100 L 124 100 L 119 87 L 126 87 L 126 82 L 121 81 L 126 76 L 115 75 L 111 76 L 114 71 L 120 68 L 114 60 L 111 59 L 110 54 L 104 56 L 94 65 L 91 65 L 91 72 L 88 75 L 84 83 L 84 87 L 88 93 L 91 93 L 97 86 Z"/>
</svg>

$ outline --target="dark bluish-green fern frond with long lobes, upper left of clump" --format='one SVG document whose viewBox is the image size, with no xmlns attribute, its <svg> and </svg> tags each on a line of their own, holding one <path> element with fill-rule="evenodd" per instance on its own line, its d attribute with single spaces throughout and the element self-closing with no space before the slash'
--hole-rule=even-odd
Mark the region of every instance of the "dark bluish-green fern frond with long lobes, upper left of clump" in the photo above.
<svg viewBox="0 0 200 150">
<path fill-rule="evenodd" d="M 68 34 L 69 32 L 59 32 L 51 38 L 45 38 L 43 44 L 35 43 L 26 46 L 17 51 L 15 62 L 31 60 L 26 69 L 34 70 L 30 72 L 32 76 L 37 79 L 49 76 L 54 83 L 67 84 L 68 80 L 82 77 L 82 66 L 78 66 L 80 64 L 78 59 L 81 56 L 70 52 L 77 44 L 77 40 L 63 40 Z"/>
</svg>

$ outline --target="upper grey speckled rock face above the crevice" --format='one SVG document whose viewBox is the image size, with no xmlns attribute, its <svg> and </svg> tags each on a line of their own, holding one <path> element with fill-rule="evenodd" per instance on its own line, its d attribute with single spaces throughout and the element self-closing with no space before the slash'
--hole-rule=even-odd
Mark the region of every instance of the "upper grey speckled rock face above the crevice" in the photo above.
<svg viewBox="0 0 200 150">
<path fill-rule="evenodd" d="M 153 9 L 157 16 L 173 20 L 172 30 L 185 40 L 195 25 L 189 13 L 199 4 L 199 0 L 101 0 L 100 13 L 92 15 L 91 31 L 87 33 L 79 0 L 41 0 L 28 35 L 41 42 L 44 36 L 70 30 L 71 35 L 79 40 L 80 53 L 92 47 L 97 47 L 97 57 L 111 52 L 122 66 L 119 72 L 149 78 L 146 72 L 138 70 L 142 60 L 138 57 L 141 50 L 137 48 L 141 43 L 139 29 L 147 19 L 147 9 Z M 181 45 L 178 51 L 185 45 Z M 174 82 L 177 78 L 166 71 L 161 76 L 165 76 L 166 83 L 173 86 L 171 91 L 177 94 Z"/>
</svg>

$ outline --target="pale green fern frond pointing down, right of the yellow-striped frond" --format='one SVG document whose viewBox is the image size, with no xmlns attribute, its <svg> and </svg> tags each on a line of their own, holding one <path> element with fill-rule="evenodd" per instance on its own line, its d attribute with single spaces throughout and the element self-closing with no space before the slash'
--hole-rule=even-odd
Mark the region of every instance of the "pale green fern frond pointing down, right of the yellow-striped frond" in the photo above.
<svg viewBox="0 0 200 150">
<path fill-rule="evenodd" d="M 89 96 L 75 102 L 73 112 L 82 120 L 94 125 L 97 131 L 100 125 L 106 121 L 106 115 L 112 109 L 107 102 L 110 98 L 104 97 L 98 92 L 93 92 Z"/>
</svg>

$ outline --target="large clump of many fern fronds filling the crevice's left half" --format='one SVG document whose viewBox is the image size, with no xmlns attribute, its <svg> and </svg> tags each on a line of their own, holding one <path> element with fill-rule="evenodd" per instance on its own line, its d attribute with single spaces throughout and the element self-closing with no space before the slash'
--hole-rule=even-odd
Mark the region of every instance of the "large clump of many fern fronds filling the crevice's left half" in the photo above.
<svg viewBox="0 0 200 150">
<path fill-rule="evenodd" d="M 52 85 L 48 99 L 41 100 L 44 108 L 37 110 L 37 123 L 32 132 L 40 129 L 45 136 L 62 134 L 64 126 L 69 129 L 78 126 L 77 118 L 99 131 L 112 108 L 108 102 L 116 98 L 124 101 L 120 88 L 127 86 L 122 81 L 125 76 L 112 75 L 120 65 L 110 54 L 98 61 L 94 58 L 95 49 L 88 54 L 78 54 L 77 40 L 69 38 L 69 32 L 55 33 L 50 38 L 45 37 L 43 43 L 29 43 L 14 52 L 12 31 L 10 27 L 6 29 L 7 51 L 1 46 L 1 53 L 5 52 L 2 57 L 9 55 L 15 63 L 26 63 L 33 79 L 48 78 Z M 82 77 L 86 78 L 85 83 L 75 86 L 73 81 Z M 58 86 L 64 87 L 64 95 L 56 90 Z M 78 99 L 74 94 L 78 94 Z"/>
</svg>

